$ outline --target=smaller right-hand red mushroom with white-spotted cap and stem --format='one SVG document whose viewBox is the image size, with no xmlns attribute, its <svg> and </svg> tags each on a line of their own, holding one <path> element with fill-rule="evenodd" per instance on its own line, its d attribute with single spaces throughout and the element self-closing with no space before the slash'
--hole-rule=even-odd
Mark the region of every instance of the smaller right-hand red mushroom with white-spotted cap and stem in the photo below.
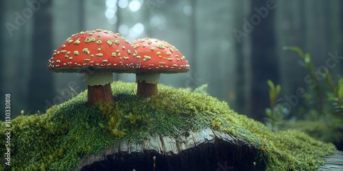
<svg viewBox="0 0 343 171">
<path fill-rule="evenodd" d="M 157 95 L 157 83 L 161 73 L 187 73 L 189 64 L 178 49 L 171 44 L 155 38 L 143 38 L 131 43 L 141 60 L 137 68 L 137 94 L 140 96 Z"/>
</svg>

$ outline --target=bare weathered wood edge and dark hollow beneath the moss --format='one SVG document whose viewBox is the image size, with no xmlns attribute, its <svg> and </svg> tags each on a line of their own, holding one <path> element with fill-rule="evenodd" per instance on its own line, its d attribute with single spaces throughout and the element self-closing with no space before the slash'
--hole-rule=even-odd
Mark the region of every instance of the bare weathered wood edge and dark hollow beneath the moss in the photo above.
<svg viewBox="0 0 343 171">
<path fill-rule="evenodd" d="M 204 129 L 176 138 L 156 135 L 119 142 L 82 159 L 75 170 L 254 170 L 257 148 L 227 133 Z M 257 158 L 256 158 L 257 157 Z"/>
</svg>

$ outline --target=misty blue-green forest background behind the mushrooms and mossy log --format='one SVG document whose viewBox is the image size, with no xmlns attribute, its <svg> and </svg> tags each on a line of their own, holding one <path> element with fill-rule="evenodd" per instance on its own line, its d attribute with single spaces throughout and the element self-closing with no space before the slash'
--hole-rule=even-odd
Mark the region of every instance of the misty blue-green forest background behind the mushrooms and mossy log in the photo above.
<svg viewBox="0 0 343 171">
<path fill-rule="evenodd" d="M 174 44 L 191 69 L 160 83 L 202 87 L 272 129 L 285 120 L 342 120 L 342 9 L 342 1 L 320 0 L 5 0 L 0 90 L 12 96 L 12 116 L 43 114 L 86 90 L 84 75 L 51 73 L 47 62 L 72 34 L 100 28 L 130 42 Z"/>
</svg>

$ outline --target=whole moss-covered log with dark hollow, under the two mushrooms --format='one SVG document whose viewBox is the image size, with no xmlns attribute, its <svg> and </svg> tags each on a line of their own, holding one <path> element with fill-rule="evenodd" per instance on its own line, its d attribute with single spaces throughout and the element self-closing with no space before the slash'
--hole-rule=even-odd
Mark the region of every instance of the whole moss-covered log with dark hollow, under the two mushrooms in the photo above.
<svg viewBox="0 0 343 171">
<path fill-rule="evenodd" d="M 154 170 L 154 156 L 156 170 L 317 170 L 337 150 L 294 129 L 274 133 L 203 92 L 159 84 L 145 98 L 136 88 L 113 83 L 113 105 L 89 105 L 85 91 L 46 114 L 23 112 L 0 170 Z"/>
</svg>

